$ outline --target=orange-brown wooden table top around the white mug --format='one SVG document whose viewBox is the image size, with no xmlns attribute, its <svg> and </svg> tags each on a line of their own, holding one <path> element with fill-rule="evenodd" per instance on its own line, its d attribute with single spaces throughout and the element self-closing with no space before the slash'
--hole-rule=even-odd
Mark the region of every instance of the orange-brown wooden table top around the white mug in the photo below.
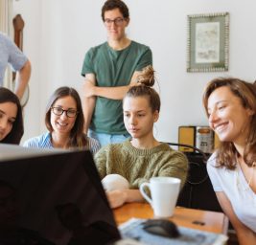
<svg viewBox="0 0 256 245">
<path fill-rule="evenodd" d="M 153 218 L 151 206 L 147 203 L 130 203 L 115 209 L 114 216 L 118 225 L 135 218 Z M 228 219 L 222 212 L 208 212 L 175 208 L 175 214 L 170 220 L 178 226 L 198 229 L 201 231 L 227 234 Z"/>
</svg>

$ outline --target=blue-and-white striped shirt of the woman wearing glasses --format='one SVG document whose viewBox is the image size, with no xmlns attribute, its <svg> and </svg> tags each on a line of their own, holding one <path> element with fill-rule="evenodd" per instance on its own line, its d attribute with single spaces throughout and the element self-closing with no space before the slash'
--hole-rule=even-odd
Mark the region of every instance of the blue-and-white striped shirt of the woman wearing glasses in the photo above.
<svg viewBox="0 0 256 245">
<path fill-rule="evenodd" d="M 89 150 L 91 151 L 92 154 L 95 154 L 101 147 L 100 143 L 93 139 L 86 137 L 86 140 L 89 145 Z M 39 135 L 37 137 L 31 138 L 27 140 L 23 146 L 29 147 L 29 148 L 54 148 L 54 145 L 52 144 L 51 141 L 51 134 L 50 132 L 44 133 L 42 135 Z"/>
</svg>

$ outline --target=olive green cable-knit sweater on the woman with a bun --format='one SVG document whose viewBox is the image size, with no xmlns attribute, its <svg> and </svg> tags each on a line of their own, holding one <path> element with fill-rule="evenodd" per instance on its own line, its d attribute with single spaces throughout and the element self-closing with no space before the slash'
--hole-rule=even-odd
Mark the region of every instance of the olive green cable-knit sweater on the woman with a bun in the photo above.
<svg viewBox="0 0 256 245">
<path fill-rule="evenodd" d="M 130 189 L 138 189 L 155 176 L 179 178 L 183 187 L 188 171 L 186 156 L 167 144 L 151 149 L 135 148 L 129 140 L 106 145 L 95 155 L 95 161 L 102 179 L 107 174 L 120 174 L 128 180 Z"/>
</svg>

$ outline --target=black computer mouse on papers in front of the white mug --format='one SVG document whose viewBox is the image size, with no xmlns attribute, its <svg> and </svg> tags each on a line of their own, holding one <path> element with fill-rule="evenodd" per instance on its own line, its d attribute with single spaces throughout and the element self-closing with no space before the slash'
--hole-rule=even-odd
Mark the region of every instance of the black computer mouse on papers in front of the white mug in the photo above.
<svg viewBox="0 0 256 245">
<path fill-rule="evenodd" d="M 179 236 L 175 223 L 167 219 L 148 219 L 143 223 L 143 229 L 151 234 L 158 234 L 171 238 Z"/>
</svg>

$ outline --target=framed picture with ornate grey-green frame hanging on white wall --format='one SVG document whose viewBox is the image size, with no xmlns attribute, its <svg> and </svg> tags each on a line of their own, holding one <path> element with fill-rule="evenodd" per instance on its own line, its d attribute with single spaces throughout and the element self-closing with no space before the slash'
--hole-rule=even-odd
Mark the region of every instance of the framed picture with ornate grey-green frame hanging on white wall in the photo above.
<svg viewBox="0 0 256 245">
<path fill-rule="evenodd" d="M 229 13 L 188 15 L 187 72 L 228 71 Z"/>
</svg>

